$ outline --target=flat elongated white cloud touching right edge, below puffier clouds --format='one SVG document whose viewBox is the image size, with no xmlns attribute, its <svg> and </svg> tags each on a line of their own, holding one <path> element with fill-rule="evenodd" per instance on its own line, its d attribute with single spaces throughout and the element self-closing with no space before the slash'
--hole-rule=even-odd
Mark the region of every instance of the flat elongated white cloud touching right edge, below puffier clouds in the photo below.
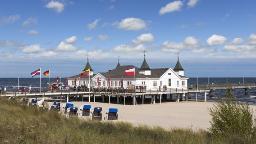
<svg viewBox="0 0 256 144">
<path fill-rule="evenodd" d="M 256 50 L 256 45 L 225 45 L 222 51 L 246 52 Z"/>
</svg>

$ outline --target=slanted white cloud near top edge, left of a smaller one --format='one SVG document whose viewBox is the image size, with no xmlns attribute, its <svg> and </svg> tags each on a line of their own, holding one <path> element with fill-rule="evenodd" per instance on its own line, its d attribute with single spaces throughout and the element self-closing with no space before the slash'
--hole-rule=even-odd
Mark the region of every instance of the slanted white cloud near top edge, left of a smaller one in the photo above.
<svg viewBox="0 0 256 144">
<path fill-rule="evenodd" d="M 165 7 L 162 7 L 160 9 L 159 14 L 163 15 L 165 13 L 171 13 L 171 12 L 174 12 L 174 11 L 180 11 L 182 6 L 183 6 L 183 3 L 182 3 L 181 0 L 170 2 L 169 4 L 166 4 Z"/>
</svg>

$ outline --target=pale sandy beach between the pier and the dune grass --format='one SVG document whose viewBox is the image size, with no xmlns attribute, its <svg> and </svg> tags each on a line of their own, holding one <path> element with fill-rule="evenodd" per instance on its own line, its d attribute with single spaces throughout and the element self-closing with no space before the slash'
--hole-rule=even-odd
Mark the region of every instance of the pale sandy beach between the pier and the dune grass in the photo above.
<svg viewBox="0 0 256 144">
<path fill-rule="evenodd" d="M 123 105 L 99 102 L 71 101 L 80 109 L 83 104 L 91 107 L 102 107 L 102 121 L 105 121 L 105 112 L 108 108 L 118 108 L 118 120 L 128 121 L 134 126 L 161 126 L 166 130 L 170 128 L 191 128 L 193 130 L 210 128 L 211 116 L 208 108 L 214 107 L 212 102 L 165 102 L 144 105 Z M 52 102 L 48 102 L 49 105 Z M 61 107 L 64 103 L 61 103 Z M 256 106 L 250 105 L 254 110 Z M 255 115 L 255 113 L 254 113 Z M 256 115 L 255 115 L 256 116 Z"/>
</svg>

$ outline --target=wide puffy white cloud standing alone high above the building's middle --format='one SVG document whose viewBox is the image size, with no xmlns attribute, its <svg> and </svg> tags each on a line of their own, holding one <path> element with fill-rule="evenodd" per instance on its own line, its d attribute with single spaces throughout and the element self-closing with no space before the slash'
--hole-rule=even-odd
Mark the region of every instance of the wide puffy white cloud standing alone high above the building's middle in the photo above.
<svg viewBox="0 0 256 144">
<path fill-rule="evenodd" d="M 146 28 L 146 23 L 140 18 L 125 18 L 122 19 L 122 22 L 115 22 L 112 25 L 117 25 L 117 28 L 119 29 L 132 31 L 138 31 L 142 28 Z"/>
</svg>

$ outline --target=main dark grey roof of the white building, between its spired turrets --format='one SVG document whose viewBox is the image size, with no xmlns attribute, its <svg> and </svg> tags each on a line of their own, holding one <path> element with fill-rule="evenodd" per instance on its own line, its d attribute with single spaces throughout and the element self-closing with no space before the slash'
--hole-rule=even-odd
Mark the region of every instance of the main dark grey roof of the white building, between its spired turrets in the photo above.
<svg viewBox="0 0 256 144">
<path fill-rule="evenodd" d="M 127 65 L 127 66 L 120 66 L 118 68 L 115 68 L 109 72 L 99 72 L 102 76 L 104 76 L 105 78 L 108 78 L 110 76 L 110 78 L 121 78 L 121 76 L 123 76 L 123 78 L 133 78 L 134 75 L 125 75 L 125 70 L 128 69 L 132 69 L 135 66 L 133 65 Z M 151 75 L 144 75 L 144 74 L 140 74 L 139 73 L 139 68 L 135 67 L 135 72 L 136 72 L 136 77 L 140 77 L 140 78 L 159 78 L 160 76 L 162 76 L 169 68 L 155 68 L 155 69 L 151 69 Z"/>
</svg>

